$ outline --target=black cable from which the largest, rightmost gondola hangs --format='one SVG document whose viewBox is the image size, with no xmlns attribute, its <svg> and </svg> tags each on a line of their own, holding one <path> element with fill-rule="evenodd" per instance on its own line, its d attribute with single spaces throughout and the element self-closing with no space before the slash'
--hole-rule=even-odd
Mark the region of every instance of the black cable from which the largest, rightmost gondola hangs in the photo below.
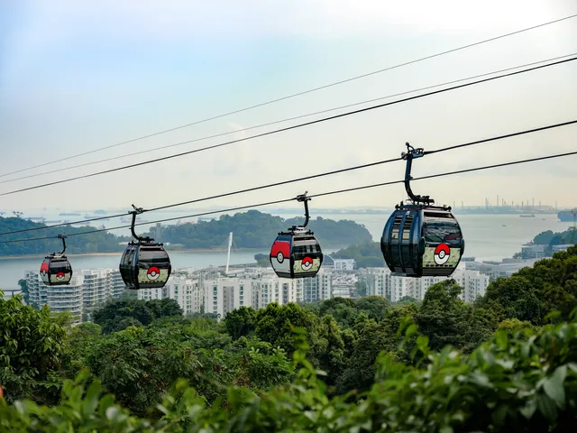
<svg viewBox="0 0 577 433">
<path fill-rule="evenodd" d="M 506 138 L 511 138 L 511 137 L 515 137 L 515 136 L 519 136 L 519 135 L 524 135 L 524 134 L 533 134 L 533 133 L 537 133 L 537 132 L 541 132 L 541 131 L 545 131 L 548 129 L 554 129 L 554 128 L 558 128 L 558 127 L 562 127 L 562 126 L 567 126 L 570 124 L 577 124 L 577 119 L 575 120 L 571 120 L 571 121 L 567 121 L 567 122 L 562 122 L 562 123 L 558 123 L 558 124 L 548 124 L 545 126 L 539 126 L 537 128 L 533 128 L 533 129 L 528 129 L 528 130 L 524 130 L 524 131 L 517 131 L 515 133 L 509 133 L 509 134 L 503 134 L 503 135 L 499 135 L 499 136 L 495 136 L 495 137 L 490 137 L 490 138 L 484 138 L 481 140 L 475 140 L 473 142 L 469 142 L 469 143 L 461 143 L 461 144 L 455 144 L 453 146 L 448 146 L 448 147 L 444 147 L 441 149 L 436 149 L 433 151 L 427 151 L 427 153 L 439 153 L 439 152 L 445 152 L 445 151 L 453 151 L 455 149 L 461 149 L 463 147 L 468 147 L 468 146 L 472 146 L 475 144 L 481 144 L 481 143 L 490 143 L 493 141 L 497 141 L 497 140 L 502 140 L 502 139 L 506 139 Z M 279 182 L 274 182 L 274 183 L 270 183 L 268 185 L 261 185 L 258 187 L 252 187 L 252 188 L 248 188 L 248 189 L 237 189 L 235 191 L 232 192 L 226 192 L 226 193 L 222 193 L 222 194 L 217 194 L 215 196 L 209 196 L 209 197 L 205 197 L 205 198 L 196 198 L 193 200 L 188 200 L 188 201 L 181 201 L 179 203 L 173 203 L 171 205 L 165 205 L 165 206 L 160 206 L 160 207 L 151 207 L 149 209 L 144 210 L 143 212 L 153 212 L 153 211 L 158 211 L 158 210 L 162 210 L 162 209 L 167 209 L 169 207 L 179 207 L 179 206 L 184 206 L 184 205 L 189 205 L 192 203 L 198 203 L 201 201 L 206 201 L 206 200 L 212 200 L 215 198 L 224 198 L 224 197 L 229 197 L 229 196 L 234 196 L 237 194 L 243 194 L 245 192 L 252 192 L 252 191 L 256 191 L 259 189 L 267 189 L 267 188 L 273 188 L 273 187 L 279 187 L 281 185 L 287 185 L 289 183 L 294 183 L 294 182 L 299 182 L 302 180 L 311 180 L 311 179 L 316 179 L 316 178 L 322 178 L 325 176 L 330 176 L 333 174 L 340 174 L 343 172 L 347 172 L 347 171 L 353 171 L 353 170 L 361 170 L 361 169 L 365 169 L 365 168 L 369 168 L 369 167 L 374 167 L 377 165 L 382 165 L 382 164 L 386 164 L 389 162 L 395 162 L 395 161 L 401 161 L 402 157 L 400 158 L 393 158 L 393 159 L 389 159 L 389 160 L 383 160 L 383 161 L 374 161 L 374 162 L 369 162 L 366 164 L 361 164 L 361 165 L 356 165 L 353 167 L 347 167 L 344 169 L 339 169 L 339 170 L 331 170 L 331 171 L 325 171 L 322 173 L 317 173 L 317 174 L 313 174 L 313 175 L 309 175 L 309 176 L 304 176 L 304 177 L 300 177 L 300 178 L 296 178 L 296 179 L 292 179 L 292 180 L 282 180 Z M 87 223 L 90 221 L 98 221 L 98 220 L 102 220 L 102 219 L 110 219 L 110 218 L 114 218 L 114 217 L 125 217 L 126 214 L 117 214 L 117 215 L 112 215 L 112 216 L 105 216 L 105 217 L 96 217 L 96 218 L 90 218 L 90 219 L 84 219 L 84 220 L 79 220 L 79 221 L 73 221 L 73 222 L 69 222 L 69 223 L 60 223 L 60 224 L 55 224 L 53 226 L 42 226 L 42 227 L 32 227 L 32 228 L 24 228 L 22 230 L 14 230 L 12 232 L 5 232 L 5 233 L 0 233 L 0 235 L 14 235 L 16 233 L 24 233 L 24 232 L 30 232 L 30 231 L 35 231 L 35 230 L 43 230 L 43 229 L 47 229 L 47 228 L 53 228 L 53 227 L 60 227 L 60 226 L 70 226 L 73 224 L 80 224 L 80 223 Z"/>
</svg>

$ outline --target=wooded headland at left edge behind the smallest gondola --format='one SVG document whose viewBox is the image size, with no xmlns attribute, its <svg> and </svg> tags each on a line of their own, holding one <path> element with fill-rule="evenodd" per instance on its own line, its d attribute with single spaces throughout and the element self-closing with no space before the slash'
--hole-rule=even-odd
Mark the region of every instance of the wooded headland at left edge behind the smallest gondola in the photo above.
<svg viewBox="0 0 577 433">
<path fill-rule="evenodd" d="M 44 227 L 44 224 L 32 223 L 23 218 L 0 217 L 0 231 L 2 233 L 14 232 L 30 228 Z M 42 230 L 43 236 L 61 235 L 62 232 L 66 235 L 73 235 L 79 232 L 87 232 L 94 230 L 91 226 L 63 226 L 56 228 L 46 228 Z M 34 231 L 23 233 L 15 233 L 14 235 L 3 236 L 3 241 L 11 241 L 16 239 L 27 239 L 38 237 Z M 97 232 L 82 236 L 69 236 L 66 240 L 66 253 L 116 253 L 124 250 L 124 246 L 118 244 L 118 238 L 107 232 Z M 62 241 L 55 240 L 41 240 L 34 242 L 14 242 L 10 244 L 0 244 L 0 255 L 32 255 L 32 254 L 48 254 L 55 251 L 62 251 Z"/>
</svg>

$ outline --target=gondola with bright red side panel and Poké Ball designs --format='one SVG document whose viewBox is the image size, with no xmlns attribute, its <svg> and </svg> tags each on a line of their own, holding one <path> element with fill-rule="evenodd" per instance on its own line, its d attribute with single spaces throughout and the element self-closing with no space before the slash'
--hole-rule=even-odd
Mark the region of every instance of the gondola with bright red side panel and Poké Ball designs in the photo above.
<svg viewBox="0 0 577 433">
<path fill-rule="evenodd" d="M 315 234 L 308 230 L 308 200 L 305 194 L 297 197 L 305 203 L 305 224 L 280 232 L 270 248 L 270 264 L 281 278 L 314 277 L 323 264 L 323 252 Z"/>
</svg>

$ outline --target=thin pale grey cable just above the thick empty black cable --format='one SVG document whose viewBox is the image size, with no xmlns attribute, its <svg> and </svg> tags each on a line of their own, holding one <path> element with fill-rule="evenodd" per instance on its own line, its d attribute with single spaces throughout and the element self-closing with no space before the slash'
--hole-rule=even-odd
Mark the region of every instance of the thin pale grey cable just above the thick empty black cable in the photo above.
<svg viewBox="0 0 577 433">
<path fill-rule="evenodd" d="M 416 88 L 416 89 L 413 89 L 413 90 L 407 90 L 407 91 L 404 91 L 404 92 L 399 92 L 399 93 L 387 95 L 387 96 L 385 96 L 385 97 L 375 97 L 375 98 L 372 98 L 372 99 L 367 99 L 367 100 L 365 100 L 365 101 L 355 102 L 355 103 L 353 103 L 353 104 L 347 104 L 347 105 L 345 105 L 345 106 L 337 106 L 337 107 L 334 107 L 334 108 L 328 108 L 328 109 L 325 109 L 325 110 L 316 111 L 316 112 L 314 112 L 314 113 L 307 113 L 306 115 L 296 115 L 296 116 L 294 116 L 294 117 L 288 117 L 288 118 L 286 118 L 286 119 L 275 120 L 275 121 L 273 121 L 273 122 L 268 122 L 268 123 L 266 123 L 266 124 L 257 124 L 257 125 L 253 125 L 253 126 L 249 126 L 249 127 L 243 128 L 243 129 L 237 129 L 237 130 L 235 130 L 235 131 L 228 131 L 228 132 L 226 132 L 226 133 L 206 135 L 206 136 L 204 136 L 204 137 L 195 138 L 195 139 L 188 140 L 188 141 L 185 141 L 185 142 L 172 143 L 172 144 L 169 144 L 169 145 L 166 145 L 166 146 L 156 147 L 156 148 L 154 148 L 154 149 L 147 149 L 147 150 L 145 150 L 145 151 L 133 152 L 133 153 L 126 153 L 126 154 L 124 154 L 124 155 L 114 156 L 114 157 L 112 157 L 112 158 L 105 158 L 105 159 L 103 159 L 103 160 L 90 161 L 90 162 L 85 162 L 85 163 L 83 163 L 83 164 L 77 164 L 77 165 L 70 166 L 70 167 L 63 167 L 63 168 L 60 168 L 60 169 L 57 169 L 57 170 L 42 171 L 41 173 L 29 174 L 29 175 L 26 175 L 26 176 L 22 176 L 22 177 L 20 177 L 20 178 L 14 178 L 14 179 L 9 179 L 9 180 L 2 180 L 2 181 L 0 181 L 0 184 L 10 183 L 10 182 L 14 182 L 14 181 L 16 181 L 16 180 L 36 178 L 36 177 L 38 177 L 38 176 L 44 176 L 44 175 L 46 175 L 46 174 L 58 173 L 58 172 L 60 172 L 60 171 L 67 171 L 67 170 L 79 169 L 79 168 L 81 168 L 81 167 L 87 167 L 87 166 L 89 166 L 89 165 L 95 165 L 95 164 L 99 164 L 99 163 L 102 163 L 102 162 L 109 162 L 109 161 L 121 160 L 121 159 L 123 159 L 123 158 L 128 158 L 128 157 L 131 157 L 131 156 L 142 155 L 143 153 L 160 151 L 160 150 L 164 150 L 164 149 L 169 149 L 169 148 L 171 148 L 171 147 L 182 146 L 182 145 L 184 145 L 184 144 L 189 144 L 189 143 L 202 142 L 202 141 L 209 140 L 209 139 L 211 139 L 211 138 L 222 137 L 222 136 L 224 136 L 224 135 L 243 133 L 243 132 L 246 132 L 246 131 L 251 131 L 252 129 L 258 129 L 258 128 L 262 128 L 262 127 L 265 127 L 265 126 L 270 126 L 270 125 L 272 125 L 272 124 L 282 124 L 282 123 L 285 123 L 285 122 L 289 122 L 289 121 L 291 121 L 291 120 L 298 120 L 298 119 L 302 119 L 303 117 L 309 117 L 309 116 L 312 116 L 312 115 L 323 115 L 323 114 L 325 114 L 325 113 L 330 113 L 330 112 L 332 112 L 332 111 L 342 110 L 342 109 L 344 109 L 344 108 L 350 108 L 350 107 L 352 107 L 352 106 L 362 106 L 363 104 L 369 104 L 369 103 L 371 103 L 371 102 L 376 102 L 376 101 L 380 101 L 380 100 L 383 100 L 383 99 L 389 99 L 389 98 L 391 98 L 391 97 L 402 97 L 402 96 L 408 95 L 408 94 L 410 94 L 410 93 L 420 92 L 420 91 L 428 90 L 428 89 L 431 89 L 431 88 L 440 88 L 440 87 L 443 87 L 443 86 L 448 86 L 448 85 L 450 85 L 450 84 L 460 83 L 460 82 L 463 82 L 463 81 L 468 81 L 468 80 L 470 80 L 470 79 L 487 77 L 487 76 L 489 76 L 489 75 L 499 74 L 499 73 L 502 73 L 502 72 L 506 72 L 506 71 L 508 71 L 508 70 L 519 69 L 519 68 L 527 68 L 528 66 L 533 66 L 533 65 L 537 65 L 537 64 L 540 64 L 540 63 L 545 63 L 545 62 L 548 62 L 548 61 L 553 61 L 553 60 L 565 59 L 565 58 L 567 58 L 567 57 L 572 57 L 572 56 L 575 56 L 575 55 L 577 55 L 577 52 L 573 52 L 572 54 L 565 54 L 564 56 L 553 57 L 553 58 L 549 58 L 549 59 L 545 59 L 545 60 L 533 61 L 533 62 L 531 62 L 531 63 L 525 63 L 525 64 L 523 64 L 523 65 L 518 65 L 518 66 L 511 67 L 511 68 L 493 70 L 493 71 L 491 71 L 491 72 L 485 72 L 485 73 L 483 73 L 483 74 L 473 75 L 473 76 L 466 77 L 466 78 L 453 79 L 452 81 L 446 81 L 446 82 L 441 83 L 441 84 L 435 84 L 435 85 L 432 85 L 432 86 L 426 86 L 426 87 L 424 87 L 424 88 Z M 209 149 L 210 149 L 210 146 L 209 146 Z M 197 149 L 197 152 L 201 152 L 201 151 L 209 150 L 209 149 L 200 148 L 200 149 Z M 14 173 L 8 173 L 8 174 L 14 174 Z M 2 177 L 4 177 L 4 176 L 7 176 L 8 174 L 0 175 L 0 178 L 2 178 Z"/>
</svg>

